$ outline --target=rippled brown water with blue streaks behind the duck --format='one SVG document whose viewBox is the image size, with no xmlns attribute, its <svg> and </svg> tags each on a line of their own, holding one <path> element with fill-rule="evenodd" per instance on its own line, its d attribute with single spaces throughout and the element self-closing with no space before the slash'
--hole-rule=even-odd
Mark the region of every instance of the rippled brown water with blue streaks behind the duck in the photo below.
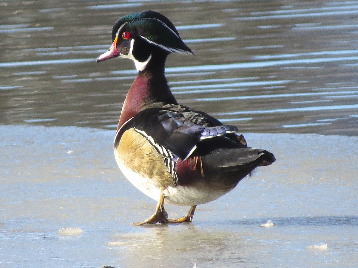
<svg viewBox="0 0 358 268">
<path fill-rule="evenodd" d="M 243 133 L 357 135 L 357 1 L 0 4 L 2 124 L 115 128 L 136 71 L 95 59 L 118 17 L 154 9 L 195 53 L 167 62 L 180 103 Z"/>
</svg>

